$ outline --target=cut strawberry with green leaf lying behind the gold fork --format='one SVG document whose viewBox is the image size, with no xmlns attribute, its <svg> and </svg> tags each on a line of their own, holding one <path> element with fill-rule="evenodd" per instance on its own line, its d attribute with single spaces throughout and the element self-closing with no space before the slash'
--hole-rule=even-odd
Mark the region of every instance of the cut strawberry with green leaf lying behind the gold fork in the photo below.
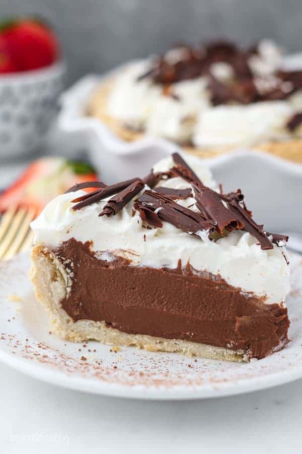
<svg viewBox="0 0 302 454">
<path fill-rule="evenodd" d="M 33 208 L 38 215 L 44 206 L 75 183 L 95 181 L 97 175 L 90 164 L 68 161 L 59 157 L 45 157 L 34 161 L 23 175 L 2 194 L 0 212 L 10 206 Z M 95 189 L 87 189 L 87 192 Z"/>
</svg>

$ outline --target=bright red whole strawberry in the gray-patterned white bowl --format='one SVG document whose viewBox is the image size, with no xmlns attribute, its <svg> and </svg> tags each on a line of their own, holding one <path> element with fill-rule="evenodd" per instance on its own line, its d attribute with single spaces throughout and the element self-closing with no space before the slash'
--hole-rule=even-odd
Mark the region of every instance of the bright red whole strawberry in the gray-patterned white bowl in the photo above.
<svg viewBox="0 0 302 454">
<path fill-rule="evenodd" d="M 0 24 L 0 37 L 5 42 L 6 55 L 13 64 L 13 71 L 43 68 L 59 58 L 59 47 L 54 33 L 37 19 L 7 20 Z"/>
</svg>

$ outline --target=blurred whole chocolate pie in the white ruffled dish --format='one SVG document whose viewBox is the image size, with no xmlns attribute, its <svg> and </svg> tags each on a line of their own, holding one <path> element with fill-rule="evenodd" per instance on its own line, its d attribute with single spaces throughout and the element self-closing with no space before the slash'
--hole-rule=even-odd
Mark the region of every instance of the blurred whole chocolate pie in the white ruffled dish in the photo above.
<svg viewBox="0 0 302 454">
<path fill-rule="evenodd" d="M 302 162 L 302 71 L 272 41 L 179 44 L 102 80 L 88 102 L 121 139 L 164 137 L 199 156 L 252 147 Z"/>
</svg>

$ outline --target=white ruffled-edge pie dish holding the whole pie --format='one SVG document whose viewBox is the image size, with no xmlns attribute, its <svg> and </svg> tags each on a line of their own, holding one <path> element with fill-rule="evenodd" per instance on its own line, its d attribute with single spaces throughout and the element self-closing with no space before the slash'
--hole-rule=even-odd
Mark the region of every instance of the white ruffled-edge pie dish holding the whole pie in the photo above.
<svg viewBox="0 0 302 454">
<path fill-rule="evenodd" d="M 101 121 L 86 117 L 83 112 L 87 99 L 99 82 L 100 76 L 86 76 L 62 95 L 58 124 L 78 140 L 79 149 L 88 149 L 105 182 L 143 176 L 159 159 L 174 151 L 182 152 L 164 139 L 122 141 Z M 302 233 L 302 165 L 248 149 L 204 162 L 225 191 L 242 189 L 255 219 L 264 223 L 267 231 Z"/>
</svg>

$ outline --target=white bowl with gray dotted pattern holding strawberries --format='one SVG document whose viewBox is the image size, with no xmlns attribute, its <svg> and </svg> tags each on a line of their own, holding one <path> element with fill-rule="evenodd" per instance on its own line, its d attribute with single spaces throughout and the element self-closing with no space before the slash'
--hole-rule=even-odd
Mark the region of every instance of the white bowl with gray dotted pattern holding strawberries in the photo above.
<svg viewBox="0 0 302 454">
<path fill-rule="evenodd" d="M 0 160 L 34 151 L 57 112 L 65 65 L 0 76 Z"/>
</svg>

